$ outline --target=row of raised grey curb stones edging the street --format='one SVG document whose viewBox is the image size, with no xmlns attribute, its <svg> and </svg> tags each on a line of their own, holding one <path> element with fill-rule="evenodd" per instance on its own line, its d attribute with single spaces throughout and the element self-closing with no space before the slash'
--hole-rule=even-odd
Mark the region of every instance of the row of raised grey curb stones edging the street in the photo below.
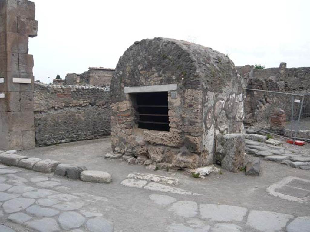
<svg viewBox="0 0 310 232">
<path fill-rule="evenodd" d="M 112 177 L 108 172 L 88 171 L 85 166 L 61 164 L 59 161 L 26 157 L 16 154 L 15 150 L 0 151 L 0 163 L 15 166 L 42 173 L 54 173 L 54 175 L 68 177 L 92 183 L 111 183 Z"/>
</svg>

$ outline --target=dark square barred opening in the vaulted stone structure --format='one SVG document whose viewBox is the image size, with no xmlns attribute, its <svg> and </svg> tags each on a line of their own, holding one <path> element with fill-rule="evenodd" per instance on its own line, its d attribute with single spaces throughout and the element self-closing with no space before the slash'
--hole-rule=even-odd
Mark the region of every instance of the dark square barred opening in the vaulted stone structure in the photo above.
<svg viewBox="0 0 310 232">
<path fill-rule="evenodd" d="M 135 95 L 138 127 L 154 131 L 169 131 L 168 92 Z"/>
</svg>

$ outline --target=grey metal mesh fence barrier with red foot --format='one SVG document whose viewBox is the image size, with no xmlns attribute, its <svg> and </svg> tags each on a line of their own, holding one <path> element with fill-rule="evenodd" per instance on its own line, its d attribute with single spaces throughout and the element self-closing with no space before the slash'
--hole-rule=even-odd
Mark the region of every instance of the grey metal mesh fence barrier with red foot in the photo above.
<svg viewBox="0 0 310 232">
<path fill-rule="evenodd" d="M 246 90 L 246 126 L 293 140 L 310 140 L 310 93 Z"/>
</svg>

